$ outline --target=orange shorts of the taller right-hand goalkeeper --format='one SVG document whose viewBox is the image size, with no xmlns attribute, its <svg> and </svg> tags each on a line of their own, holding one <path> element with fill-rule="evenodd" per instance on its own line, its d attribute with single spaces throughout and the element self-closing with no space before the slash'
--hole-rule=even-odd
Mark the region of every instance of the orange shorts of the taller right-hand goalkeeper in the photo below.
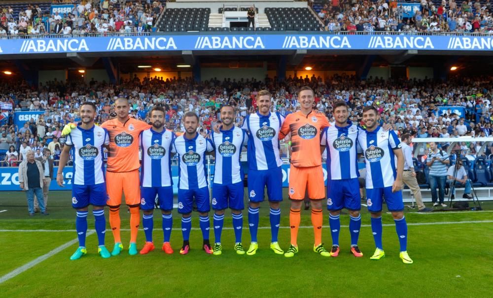
<svg viewBox="0 0 493 298">
<path fill-rule="evenodd" d="M 303 200 L 308 188 L 308 197 L 312 200 L 325 198 L 322 166 L 295 167 L 291 164 L 289 170 L 289 198 Z"/>
</svg>

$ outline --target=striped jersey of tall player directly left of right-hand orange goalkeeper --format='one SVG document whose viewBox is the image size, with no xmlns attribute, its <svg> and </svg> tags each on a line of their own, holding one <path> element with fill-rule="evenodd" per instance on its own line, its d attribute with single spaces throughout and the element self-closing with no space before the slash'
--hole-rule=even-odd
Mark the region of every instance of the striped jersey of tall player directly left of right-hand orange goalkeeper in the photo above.
<svg viewBox="0 0 493 298">
<path fill-rule="evenodd" d="M 250 170 L 270 170 L 282 166 L 279 156 L 279 130 L 284 117 L 280 113 L 259 112 L 246 116 L 242 128 L 248 131 L 248 168 Z"/>
</svg>

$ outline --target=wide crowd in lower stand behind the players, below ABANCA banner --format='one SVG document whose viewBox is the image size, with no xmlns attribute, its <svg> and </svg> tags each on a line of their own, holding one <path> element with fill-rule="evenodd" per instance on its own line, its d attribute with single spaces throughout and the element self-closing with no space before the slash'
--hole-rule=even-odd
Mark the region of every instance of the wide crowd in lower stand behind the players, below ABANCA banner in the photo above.
<svg viewBox="0 0 493 298">
<path fill-rule="evenodd" d="M 248 113 L 256 110 L 255 95 L 267 88 L 273 94 L 272 112 L 286 115 L 299 109 L 296 94 L 303 85 L 310 85 L 316 92 L 316 108 L 333 121 L 332 103 L 348 102 L 351 119 L 361 121 L 364 106 L 375 105 L 381 122 L 390 123 L 399 134 L 409 133 L 415 138 L 426 137 L 488 137 L 493 134 L 492 77 L 477 76 L 451 79 L 447 82 L 425 80 L 394 80 L 370 77 L 358 80 L 352 75 L 334 75 L 325 81 L 312 77 L 291 77 L 279 82 L 276 78 L 211 79 L 196 83 L 190 78 L 163 79 L 135 76 L 112 85 L 91 80 L 85 84 L 76 81 L 51 81 L 37 88 L 26 83 L 3 82 L 0 85 L 0 101 L 10 102 L 15 111 L 45 111 L 37 119 L 31 119 L 23 127 L 11 121 L 12 112 L 2 111 L 3 123 L 0 136 L 1 159 L 15 164 L 25 152 L 33 149 L 37 157 L 48 148 L 55 159 L 63 148 L 59 140 L 66 123 L 78 120 L 81 102 L 93 101 L 98 107 L 96 123 L 113 118 L 112 103 L 117 97 L 131 101 L 131 117 L 149 120 L 154 105 L 163 105 L 167 111 L 167 127 L 181 133 L 181 117 L 193 111 L 199 115 L 203 133 L 210 131 L 218 120 L 223 104 L 236 107 L 236 125 L 241 125 Z M 439 106 L 464 107 L 465 115 L 448 110 L 437 115 Z M 9 121 L 10 119 L 10 121 Z M 481 143 L 460 144 L 462 150 L 476 154 Z M 8 151 L 8 153 L 7 153 Z M 491 153 L 488 149 L 486 153 Z"/>
</svg>

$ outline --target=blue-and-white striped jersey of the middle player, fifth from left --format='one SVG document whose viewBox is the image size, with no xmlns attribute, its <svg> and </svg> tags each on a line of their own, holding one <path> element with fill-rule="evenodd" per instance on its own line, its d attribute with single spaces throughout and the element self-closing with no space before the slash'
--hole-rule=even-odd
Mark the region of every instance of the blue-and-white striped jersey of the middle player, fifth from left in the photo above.
<svg viewBox="0 0 493 298">
<path fill-rule="evenodd" d="M 214 183 L 227 185 L 243 181 L 240 157 L 248 142 L 246 131 L 233 126 L 230 130 L 212 132 L 211 141 L 215 149 Z"/>
</svg>

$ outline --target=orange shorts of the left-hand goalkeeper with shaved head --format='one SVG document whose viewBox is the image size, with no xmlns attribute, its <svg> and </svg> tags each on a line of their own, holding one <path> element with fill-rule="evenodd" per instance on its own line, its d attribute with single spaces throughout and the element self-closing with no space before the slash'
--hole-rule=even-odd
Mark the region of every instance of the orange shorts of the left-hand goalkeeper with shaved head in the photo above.
<svg viewBox="0 0 493 298">
<path fill-rule="evenodd" d="M 108 192 L 106 205 L 109 207 L 120 206 L 123 193 L 127 206 L 139 206 L 141 203 L 139 170 L 124 173 L 106 171 L 106 191 Z"/>
</svg>

